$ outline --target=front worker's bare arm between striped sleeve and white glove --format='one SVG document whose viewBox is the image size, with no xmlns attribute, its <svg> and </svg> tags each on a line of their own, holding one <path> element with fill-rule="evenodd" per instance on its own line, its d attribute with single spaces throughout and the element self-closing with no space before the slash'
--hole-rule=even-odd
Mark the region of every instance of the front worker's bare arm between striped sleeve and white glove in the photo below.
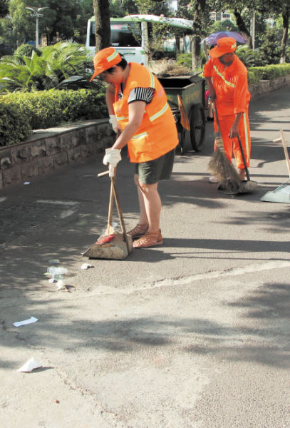
<svg viewBox="0 0 290 428">
<path fill-rule="evenodd" d="M 143 121 L 146 103 L 144 101 L 135 101 L 129 104 L 129 121 L 118 136 L 112 148 L 121 149 L 133 137 Z"/>
</svg>

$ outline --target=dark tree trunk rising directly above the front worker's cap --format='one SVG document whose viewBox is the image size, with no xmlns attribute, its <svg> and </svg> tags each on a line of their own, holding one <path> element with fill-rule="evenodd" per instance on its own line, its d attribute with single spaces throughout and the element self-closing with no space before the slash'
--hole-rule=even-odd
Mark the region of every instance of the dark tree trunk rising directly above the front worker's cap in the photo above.
<svg viewBox="0 0 290 428">
<path fill-rule="evenodd" d="M 109 0 L 93 0 L 95 11 L 95 51 L 110 46 Z"/>
</svg>

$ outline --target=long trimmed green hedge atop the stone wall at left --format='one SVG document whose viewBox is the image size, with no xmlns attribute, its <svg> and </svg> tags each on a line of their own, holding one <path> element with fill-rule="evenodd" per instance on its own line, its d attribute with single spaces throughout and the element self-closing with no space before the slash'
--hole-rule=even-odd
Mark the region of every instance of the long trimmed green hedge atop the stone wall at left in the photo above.
<svg viewBox="0 0 290 428">
<path fill-rule="evenodd" d="M 15 115 L 9 113 L 10 106 L 14 110 L 15 107 L 18 108 L 21 119 L 25 117 L 19 136 L 16 136 L 16 131 L 13 136 L 9 136 L 4 131 L 2 135 L 2 131 L 0 131 L 1 146 L 24 141 L 31 135 L 31 129 L 51 128 L 61 123 L 108 116 L 104 92 L 90 89 L 79 89 L 78 91 L 51 89 L 50 91 L 29 93 L 8 93 L 0 96 L 0 108 L 1 106 L 5 106 L 6 128 L 19 128 Z M 24 133 L 25 127 L 27 127 L 27 131 Z"/>
</svg>

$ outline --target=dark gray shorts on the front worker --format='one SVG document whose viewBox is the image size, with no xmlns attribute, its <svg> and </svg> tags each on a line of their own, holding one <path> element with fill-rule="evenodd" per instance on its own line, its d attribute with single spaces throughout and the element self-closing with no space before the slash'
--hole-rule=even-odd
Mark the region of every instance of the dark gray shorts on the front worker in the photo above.
<svg viewBox="0 0 290 428">
<path fill-rule="evenodd" d="M 153 161 L 135 164 L 135 174 L 142 184 L 155 184 L 159 180 L 168 180 L 171 177 L 175 158 L 175 148 Z"/>
</svg>

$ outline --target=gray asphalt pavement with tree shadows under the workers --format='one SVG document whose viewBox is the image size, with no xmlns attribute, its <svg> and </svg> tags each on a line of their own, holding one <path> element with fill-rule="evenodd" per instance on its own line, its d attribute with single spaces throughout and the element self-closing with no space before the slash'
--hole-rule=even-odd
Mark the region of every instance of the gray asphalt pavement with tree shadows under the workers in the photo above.
<svg viewBox="0 0 290 428">
<path fill-rule="evenodd" d="M 207 123 L 204 150 L 187 141 L 160 183 L 163 247 L 125 260 L 81 255 L 106 226 L 101 156 L 0 191 L 1 427 L 290 427 L 290 205 L 260 200 L 289 180 L 273 142 L 283 129 L 290 146 L 289 100 L 287 86 L 250 103 L 257 191 L 208 182 Z M 133 170 L 123 153 L 128 229 Z M 53 260 L 68 290 L 44 275 Z M 31 357 L 42 367 L 17 372 Z"/>
</svg>

